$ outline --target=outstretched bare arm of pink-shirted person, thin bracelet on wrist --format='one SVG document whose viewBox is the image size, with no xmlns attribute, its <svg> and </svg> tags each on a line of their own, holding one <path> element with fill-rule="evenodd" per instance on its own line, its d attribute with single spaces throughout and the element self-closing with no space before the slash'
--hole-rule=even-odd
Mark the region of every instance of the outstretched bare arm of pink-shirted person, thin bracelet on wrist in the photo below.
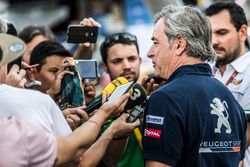
<svg viewBox="0 0 250 167">
<path fill-rule="evenodd" d="M 87 149 L 97 138 L 100 127 L 113 113 L 122 110 L 128 100 L 129 93 L 123 95 L 119 100 L 104 104 L 100 109 L 83 125 L 77 128 L 68 137 L 57 137 L 57 162 L 56 165 L 63 164 L 74 158 L 76 152 Z"/>
</svg>

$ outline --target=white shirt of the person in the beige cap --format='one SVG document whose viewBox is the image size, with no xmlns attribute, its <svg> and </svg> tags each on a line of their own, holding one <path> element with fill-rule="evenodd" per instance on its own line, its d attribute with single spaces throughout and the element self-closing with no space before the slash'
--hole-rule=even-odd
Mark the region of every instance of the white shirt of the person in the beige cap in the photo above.
<svg viewBox="0 0 250 167">
<path fill-rule="evenodd" d="M 5 84 L 0 85 L 0 94 L 0 116 L 15 116 L 41 125 L 52 134 L 68 136 L 72 132 L 62 111 L 49 95 Z"/>
</svg>

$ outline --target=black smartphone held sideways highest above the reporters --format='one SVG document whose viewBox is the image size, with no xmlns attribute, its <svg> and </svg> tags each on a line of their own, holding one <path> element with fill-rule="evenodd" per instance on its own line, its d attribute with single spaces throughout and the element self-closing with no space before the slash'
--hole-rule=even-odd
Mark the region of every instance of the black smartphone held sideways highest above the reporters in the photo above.
<svg viewBox="0 0 250 167">
<path fill-rule="evenodd" d="M 69 25 L 67 30 L 68 43 L 96 43 L 98 27 Z"/>
</svg>

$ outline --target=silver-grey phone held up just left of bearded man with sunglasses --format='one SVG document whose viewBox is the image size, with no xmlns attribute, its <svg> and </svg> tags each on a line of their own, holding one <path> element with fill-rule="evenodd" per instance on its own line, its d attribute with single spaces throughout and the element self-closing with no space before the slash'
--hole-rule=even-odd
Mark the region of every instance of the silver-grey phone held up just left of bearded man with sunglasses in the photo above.
<svg viewBox="0 0 250 167">
<path fill-rule="evenodd" d="M 96 79 L 98 77 L 97 60 L 76 60 L 76 66 L 83 79 Z"/>
</svg>

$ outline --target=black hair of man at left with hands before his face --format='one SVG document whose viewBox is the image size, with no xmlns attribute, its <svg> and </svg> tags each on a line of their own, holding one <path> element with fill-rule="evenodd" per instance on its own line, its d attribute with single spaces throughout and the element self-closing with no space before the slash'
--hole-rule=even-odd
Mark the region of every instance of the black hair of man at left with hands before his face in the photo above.
<svg viewBox="0 0 250 167">
<path fill-rule="evenodd" d="M 43 41 L 39 43 L 31 52 L 30 65 L 39 64 L 38 70 L 46 63 L 45 59 L 52 55 L 58 55 L 60 57 L 72 57 L 69 51 L 67 51 L 60 43 L 55 41 Z"/>
</svg>

